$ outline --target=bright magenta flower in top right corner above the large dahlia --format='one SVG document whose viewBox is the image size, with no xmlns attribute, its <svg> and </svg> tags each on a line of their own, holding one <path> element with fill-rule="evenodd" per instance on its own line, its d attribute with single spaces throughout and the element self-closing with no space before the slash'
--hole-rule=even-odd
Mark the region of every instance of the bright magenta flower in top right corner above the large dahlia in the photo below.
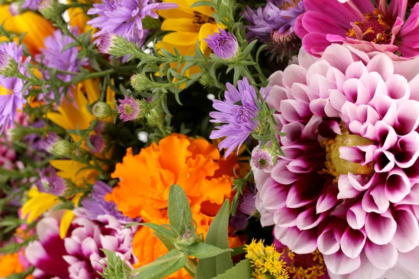
<svg viewBox="0 0 419 279">
<path fill-rule="evenodd" d="M 404 58 L 419 55 L 419 5 L 407 20 L 407 1 L 305 0 L 306 13 L 295 23 L 304 50 L 320 56 L 332 43 L 351 43 L 364 52 L 399 52 Z"/>
</svg>

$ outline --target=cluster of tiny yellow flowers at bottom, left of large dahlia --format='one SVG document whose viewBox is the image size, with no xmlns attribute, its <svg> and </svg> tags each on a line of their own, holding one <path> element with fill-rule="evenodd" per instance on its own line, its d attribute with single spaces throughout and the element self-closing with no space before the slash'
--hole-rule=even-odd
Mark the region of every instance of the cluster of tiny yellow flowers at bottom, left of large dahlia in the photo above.
<svg viewBox="0 0 419 279">
<path fill-rule="evenodd" d="M 265 246 L 263 241 L 255 239 L 246 246 L 246 258 L 251 260 L 253 267 L 252 276 L 255 279 L 288 279 L 283 253 L 275 249 L 274 244 Z"/>
</svg>

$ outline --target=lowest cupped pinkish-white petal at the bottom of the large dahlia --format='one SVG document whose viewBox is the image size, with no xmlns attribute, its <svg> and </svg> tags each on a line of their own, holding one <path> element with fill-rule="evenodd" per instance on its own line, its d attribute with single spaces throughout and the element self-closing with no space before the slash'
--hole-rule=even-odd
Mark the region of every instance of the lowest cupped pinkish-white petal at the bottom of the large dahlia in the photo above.
<svg viewBox="0 0 419 279">
<path fill-rule="evenodd" d="M 348 274 L 357 270 L 361 265 L 360 257 L 351 259 L 344 252 L 338 251 L 333 255 L 324 255 L 324 260 L 328 270 L 337 275 Z"/>
</svg>

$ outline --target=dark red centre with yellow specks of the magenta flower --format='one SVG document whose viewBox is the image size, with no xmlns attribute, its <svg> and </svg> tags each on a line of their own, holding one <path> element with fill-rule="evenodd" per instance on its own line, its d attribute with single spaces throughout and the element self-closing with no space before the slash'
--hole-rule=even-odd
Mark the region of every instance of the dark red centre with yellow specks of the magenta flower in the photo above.
<svg viewBox="0 0 419 279">
<path fill-rule="evenodd" d="M 358 40 L 387 44 L 390 43 L 394 24 L 395 21 L 385 15 L 382 10 L 375 9 L 374 13 L 365 14 L 365 20 L 354 22 L 353 29 L 346 34 Z"/>
</svg>

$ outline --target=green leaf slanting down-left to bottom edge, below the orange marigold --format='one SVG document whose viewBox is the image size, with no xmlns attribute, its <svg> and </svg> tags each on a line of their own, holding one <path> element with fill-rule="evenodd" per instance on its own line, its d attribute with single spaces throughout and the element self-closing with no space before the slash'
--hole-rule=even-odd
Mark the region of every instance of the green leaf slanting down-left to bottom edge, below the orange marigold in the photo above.
<svg viewBox="0 0 419 279">
<path fill-rule="evenodd" d="M 186 264 L 186 255 L 179 250 L 171 250 L 166 255 L 163 255 L 133 272 L 139 272 L 134 279 L 161 279 L 175 273 Z"/>
</svg>

